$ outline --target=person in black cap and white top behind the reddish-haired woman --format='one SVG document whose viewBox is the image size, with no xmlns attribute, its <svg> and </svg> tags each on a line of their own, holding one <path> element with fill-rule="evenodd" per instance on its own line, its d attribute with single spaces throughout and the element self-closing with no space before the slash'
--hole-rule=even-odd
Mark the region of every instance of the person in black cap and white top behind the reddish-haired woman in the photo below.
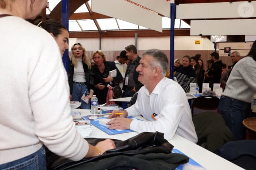
<svg viewBox="0 0 256 170">
<path fill-rule="evenodd" d="M 125 63 L 126 60 L 128 60 L 128 58 L 126 56 L 126 51 L 123 50 L 123 51 L 121 51 L 119 58 L 117 58 L 117 60 L 114 61 L 116 63 L 117 69 L 120 71 L 121 75 L 123 76 L 123 80 L 121 82 L 119 82 L 119 86 L 121 87 L 121 89 L 123 88 L 124 75 L 125 75 L 125 71 L 127 68 L 127 64 Z"/>
</svg>

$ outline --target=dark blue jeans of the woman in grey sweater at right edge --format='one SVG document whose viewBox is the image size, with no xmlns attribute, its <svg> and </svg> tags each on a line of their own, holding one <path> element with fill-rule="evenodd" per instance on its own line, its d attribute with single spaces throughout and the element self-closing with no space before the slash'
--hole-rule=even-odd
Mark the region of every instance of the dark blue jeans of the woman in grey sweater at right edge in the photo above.
<svg viewBox="0 0 256 170">
<path fill-rule="evenodd" d="M 250 114 L 251 104 L 221 96 L 218 110 L 226 121 L 227 127 L 234 135 L 235 140 L 241 140 L 245 130 L 242 121 Z"/>
</svg>

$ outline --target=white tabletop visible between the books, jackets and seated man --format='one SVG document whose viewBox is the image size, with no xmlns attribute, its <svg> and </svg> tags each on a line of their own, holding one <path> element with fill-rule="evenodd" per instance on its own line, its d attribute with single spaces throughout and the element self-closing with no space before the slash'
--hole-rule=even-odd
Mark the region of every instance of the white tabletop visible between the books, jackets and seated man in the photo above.
<svg viewBox="0 0 256 170">
<path fill-rule="evenodd" d="M 75 115 L 74 118 L 80 118 L 81 116 L 86 116 L 90 114 L 90 110 L 85 109 L 72 109 L 72 112 L 81 112 L 81 115 Z M 139 116 L 139 119 L 144 119 Z M 145 120 L 145 119 L 144 119 Z M 137 132 L 129 132 L 124 134 L 108 135 L 97 127 L 94 127 L 93 132 L 89 137 L 97 138 L 112 138 L 118 140 L 126 140 L 130 137 L 136 136 Z M 174 137 L 169 140 L 169 143 L 174 146 L 174 148 L 180 150 L 188 157 L 194 159 L 197 163 L 202 165 L 207 170 L 243 170 L 240 166 L 237 166 L 220 156 L 200 147 L 184 139 L 183 137 L 175 134 Z"/>
</svg>

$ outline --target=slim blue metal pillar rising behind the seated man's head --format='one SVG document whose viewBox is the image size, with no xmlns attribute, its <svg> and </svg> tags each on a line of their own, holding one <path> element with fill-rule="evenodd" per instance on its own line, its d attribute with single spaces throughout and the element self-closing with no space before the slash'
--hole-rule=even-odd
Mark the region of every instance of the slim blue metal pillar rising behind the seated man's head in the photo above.
<svg viewBox="0 0 256 170">
<path fill-rule="evenodd" d="M 174 23 L 176 18 L 176 4 L 171 3 L 171 37 L 170 37 L 170 79 L 173 79 L 174 71 Z"/>
</svg>

